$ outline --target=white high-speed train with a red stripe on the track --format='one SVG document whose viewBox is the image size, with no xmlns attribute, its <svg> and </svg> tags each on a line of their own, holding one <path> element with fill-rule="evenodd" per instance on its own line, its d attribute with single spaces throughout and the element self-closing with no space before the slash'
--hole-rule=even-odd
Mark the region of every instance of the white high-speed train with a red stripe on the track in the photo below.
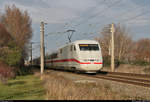
<svg viewBox="0 0 150 102">
<path fill-rule="evenodd" d="M 78 40 L 58 49 L 46 66 L 77 72 L 96 73 L 103 66 L 101 47 L 95 40 Z"/>
</svg>

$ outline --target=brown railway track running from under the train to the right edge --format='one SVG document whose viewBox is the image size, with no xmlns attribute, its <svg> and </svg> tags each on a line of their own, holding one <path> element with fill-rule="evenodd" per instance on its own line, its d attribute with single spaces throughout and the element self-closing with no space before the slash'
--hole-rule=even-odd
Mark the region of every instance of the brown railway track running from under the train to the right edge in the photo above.
<svg viewBox="0 0 150 102">
<path fill-rule="evenodd" d="M 76 73 L 71 73 L 71 74 L 76 74 Z M 121 73 L 121 72 L 100 72 L 95 75 L 93 74 L 92 75 L 91 74 L 78 74 L 78 75 L 86 76 L 89 78 L 92 77 L 96 79 L 104 79 L 104 80 L 110 80 L 110 81 L 150 88 L 150 75 Z"/>
</svg>

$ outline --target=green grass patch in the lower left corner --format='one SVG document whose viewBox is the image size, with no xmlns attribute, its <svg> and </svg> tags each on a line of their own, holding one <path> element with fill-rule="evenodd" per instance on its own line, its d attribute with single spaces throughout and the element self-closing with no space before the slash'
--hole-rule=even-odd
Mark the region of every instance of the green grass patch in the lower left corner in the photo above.
<svg viewBox="0 0 150 102">
<path fill-rule="evenodd" d="M 42 100 L 44 95 L 41 80 L 34 75 L 17 76 L 7 85 L 0 83 L 0 100 Z"/>
</svg>

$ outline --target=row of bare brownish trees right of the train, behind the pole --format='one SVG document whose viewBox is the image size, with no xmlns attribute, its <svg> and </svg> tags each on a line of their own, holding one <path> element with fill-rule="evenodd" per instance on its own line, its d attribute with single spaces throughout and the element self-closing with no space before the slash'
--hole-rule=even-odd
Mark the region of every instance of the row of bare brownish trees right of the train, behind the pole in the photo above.
<svg viewBox="0 0 150 102">
<path fill-rule="evenodd" d="M 110 65 L 111 52 L 111 24 L 106 25 L 100 36 L 96 37 L 99 41 L 105 65 Z M 150 64 L 150 38 L 133 40 L 132 34 L 126 26 L 115 24 L 114 44 L 115 62 L 135 65 Z"/>
</svg>

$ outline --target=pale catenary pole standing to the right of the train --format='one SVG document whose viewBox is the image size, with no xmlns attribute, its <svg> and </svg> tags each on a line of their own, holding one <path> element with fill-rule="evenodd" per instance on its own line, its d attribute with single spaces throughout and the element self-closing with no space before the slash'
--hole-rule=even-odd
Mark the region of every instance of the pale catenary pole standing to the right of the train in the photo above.
<svg viewBox="0 0 150 102">
<path fill-rule="evenodd" d="M 111 71 L 114 72 L 114 24 L 111 25 L 111 33 L 112 33 L 112 39 L 111 39 Z"/>
</svg>

